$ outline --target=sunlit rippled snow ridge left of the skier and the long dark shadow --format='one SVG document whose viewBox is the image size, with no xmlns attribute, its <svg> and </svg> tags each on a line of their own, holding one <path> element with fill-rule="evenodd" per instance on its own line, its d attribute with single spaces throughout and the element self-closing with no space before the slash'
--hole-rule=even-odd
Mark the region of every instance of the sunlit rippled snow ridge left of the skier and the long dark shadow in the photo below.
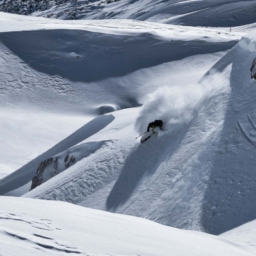
<svg viewBox="0 0 256 256">
<path fill-rule="evenodd" d="M 24 196 L 80 204 L 92 193 L 111 186 L 113 180 L 120 175 L 125 159 L 131 154 L 132 148 L 136 147 L 132 121 L 137 113 L 138 109 L 124 109 L 113 113 L 115 120 L 111 124 L 83 141 L 84 145 L 90 149 L 90 145 L 102 145 L 102 138 L 104 141 L 108 140 L 102 147 L 44 184 L 29 192 L 27 190 L 28 193 Z M 123 140 L 125 137 L 127 139 Z M 108 193 L 104 196 L 108 196 Z"/>
</svg>

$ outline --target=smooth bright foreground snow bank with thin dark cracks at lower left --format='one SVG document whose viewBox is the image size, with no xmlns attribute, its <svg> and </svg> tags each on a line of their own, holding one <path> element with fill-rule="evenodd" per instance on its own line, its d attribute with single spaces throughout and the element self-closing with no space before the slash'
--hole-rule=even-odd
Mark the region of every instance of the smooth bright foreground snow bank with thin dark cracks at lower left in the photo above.
<svg viewBox="0 0 256 256">
<path fill-rule="evenodd" d="M 1 197 L 3 255 L 251 256 L 222 237 L 65 202 Z"/>
</svg>

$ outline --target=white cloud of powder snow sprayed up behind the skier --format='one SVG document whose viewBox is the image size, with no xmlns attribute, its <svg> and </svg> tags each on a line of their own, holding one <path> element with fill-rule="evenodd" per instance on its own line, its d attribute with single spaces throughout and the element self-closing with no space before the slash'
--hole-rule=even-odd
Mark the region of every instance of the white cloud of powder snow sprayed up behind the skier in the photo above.
<svg viewBox="0 0 256 256">
<path fill-rule="evenodd" d="M 206 76 L 195 84 L 182 86 L 163 86 L 148 95 L 136 120 L 135 129 L 138 133 L 147 130 L 147 125 L 154 120 L 163 120 L 164 130 L 175 131 L 180 125 L 188 124 L 196 106 L 205 99 L 209 99 L 227 82 L 220 74 Z"/>
</svg>

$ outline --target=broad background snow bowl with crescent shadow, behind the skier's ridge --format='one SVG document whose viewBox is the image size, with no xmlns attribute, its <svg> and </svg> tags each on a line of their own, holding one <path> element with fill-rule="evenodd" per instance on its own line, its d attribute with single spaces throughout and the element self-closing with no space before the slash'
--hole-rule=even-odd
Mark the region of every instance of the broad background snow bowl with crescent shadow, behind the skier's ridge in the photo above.
<svg viewBox="0 0 256 256">
<path fill-rule="evenodd" d="M 1 173 L 95 116 L 140 106 L 159 86 L 196 82 L 243 35 L 131 20 L 0 20 Z"/>
</svg>

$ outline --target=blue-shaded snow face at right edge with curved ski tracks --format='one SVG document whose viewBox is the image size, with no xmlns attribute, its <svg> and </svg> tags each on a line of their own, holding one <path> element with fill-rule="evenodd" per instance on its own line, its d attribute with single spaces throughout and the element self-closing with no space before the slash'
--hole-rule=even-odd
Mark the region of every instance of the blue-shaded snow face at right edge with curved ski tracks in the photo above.
<svg viewBox="0 0 256 256">
<path fill-rule="evenodd" d="M 252 31 L 243 36 L 214 66 L 220 71 L 230 67 L 231 93 L 202 205 L 202 223 L 205 230 L 213 234 L 256 218 L 253 199 L 256 193 L 256 83 L 250 76 L 256 56 L 255 35 Z"/>
</svg>

